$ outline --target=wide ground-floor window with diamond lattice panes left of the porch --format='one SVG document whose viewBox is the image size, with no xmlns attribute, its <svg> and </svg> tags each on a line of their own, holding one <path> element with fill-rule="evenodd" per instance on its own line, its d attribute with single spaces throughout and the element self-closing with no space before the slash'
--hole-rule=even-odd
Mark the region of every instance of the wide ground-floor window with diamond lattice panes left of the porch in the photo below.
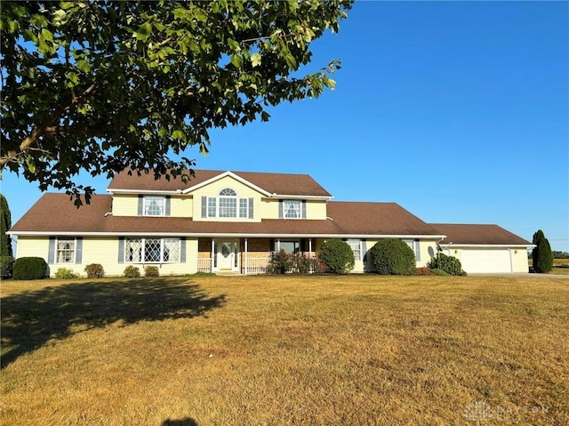
<svg viewBox="0 0 569 426">
<path fill-rule="evenodd" d="M 124 261 L 172 263 L 180 261 L 179 238 L 126 238 Z"/>
</svg>

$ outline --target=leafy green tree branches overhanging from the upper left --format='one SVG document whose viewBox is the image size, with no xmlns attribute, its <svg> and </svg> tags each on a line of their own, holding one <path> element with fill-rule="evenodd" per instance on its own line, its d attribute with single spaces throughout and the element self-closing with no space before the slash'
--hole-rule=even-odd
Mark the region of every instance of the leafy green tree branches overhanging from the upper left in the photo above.
<svg viewBox="0 0 569 426">
<path fill-rule="evenodd" d="M 268 120 L 333 88 L 310 43 L 351 0 L 3 2 L 0 166 L 69 193 L 80 171 L 156 178 L 195 165 L 213 127 Z M 79 199 L 77 201 L 80 202 Z M 79 204 L 79 203 L 78 203 Z"/>
</svg>

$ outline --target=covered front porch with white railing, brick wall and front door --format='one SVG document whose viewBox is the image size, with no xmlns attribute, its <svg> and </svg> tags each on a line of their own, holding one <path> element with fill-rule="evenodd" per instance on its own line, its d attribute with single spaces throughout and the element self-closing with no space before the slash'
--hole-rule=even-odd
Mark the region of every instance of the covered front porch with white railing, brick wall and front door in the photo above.
<svg viewBox="0 0 569 426">
<path fill-rule="evenodd" d="M 197 271 L 259 275 L 268 273 L 270 254 L 284 249 L 316 262 L 315 238 L 199 238 Z M 313 270 L 316 265 L 313 265 Z"/>
</svg>

